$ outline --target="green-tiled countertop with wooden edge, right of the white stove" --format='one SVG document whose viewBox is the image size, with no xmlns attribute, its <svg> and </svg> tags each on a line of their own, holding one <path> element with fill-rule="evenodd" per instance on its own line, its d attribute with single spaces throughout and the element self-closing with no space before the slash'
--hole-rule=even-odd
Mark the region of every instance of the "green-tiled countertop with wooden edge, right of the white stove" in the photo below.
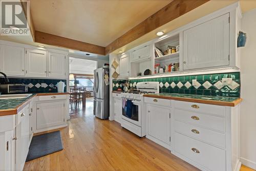
<svg viewBox="0 0 256 171">
<path fill-rule="evenodd" d="M 236 106 L 242 102 L 242 98 L 235 97 L 214 97 L 202 95 L 185 95 L 185 94 L 172 94 L 172 93 L 159 93 L 159 94 L 145 94 L 144 97 L 170 99 L 178 101 L 188 101 L 195 103 L 214 104 L 223 106 Z"/>
</svg>

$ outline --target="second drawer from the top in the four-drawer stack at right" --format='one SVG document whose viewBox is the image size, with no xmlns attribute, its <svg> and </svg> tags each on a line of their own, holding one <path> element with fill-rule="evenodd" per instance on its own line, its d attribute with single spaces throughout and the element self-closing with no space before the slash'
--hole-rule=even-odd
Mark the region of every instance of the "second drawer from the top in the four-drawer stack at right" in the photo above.
<svg viewBox="0 0 256 171">
<path fill-rule="evenodd" d="M 225 132 L 225 118 L 175 109 L 175 120 Z"/>
</svg>

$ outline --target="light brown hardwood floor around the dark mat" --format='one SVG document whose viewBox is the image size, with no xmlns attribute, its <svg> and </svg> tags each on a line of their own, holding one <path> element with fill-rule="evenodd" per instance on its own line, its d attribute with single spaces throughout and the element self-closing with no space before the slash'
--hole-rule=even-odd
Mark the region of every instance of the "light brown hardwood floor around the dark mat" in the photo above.
<svg viewBox="0 0 256 171">
<path fill-rule="evenodd" d="M 24 170 L 199 170 L 119 123 L 95 118 L 91 103 L 60 129 L 64 149 L 26 162 Z"/>
</svg>

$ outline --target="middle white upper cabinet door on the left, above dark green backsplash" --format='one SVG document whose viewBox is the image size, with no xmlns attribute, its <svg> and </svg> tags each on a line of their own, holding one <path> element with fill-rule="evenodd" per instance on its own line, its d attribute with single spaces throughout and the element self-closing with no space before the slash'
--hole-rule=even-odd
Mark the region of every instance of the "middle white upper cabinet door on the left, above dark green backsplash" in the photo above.
<svg viewBox="0 0 256 171">
<path fill-rule="evenodd" d="M 47 52 L 27 49 L 26 76 L 47 77 Z"/>
</svg>

